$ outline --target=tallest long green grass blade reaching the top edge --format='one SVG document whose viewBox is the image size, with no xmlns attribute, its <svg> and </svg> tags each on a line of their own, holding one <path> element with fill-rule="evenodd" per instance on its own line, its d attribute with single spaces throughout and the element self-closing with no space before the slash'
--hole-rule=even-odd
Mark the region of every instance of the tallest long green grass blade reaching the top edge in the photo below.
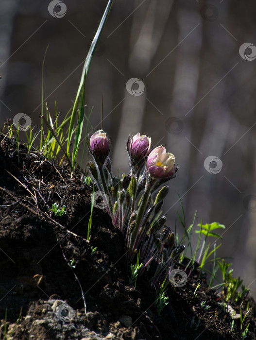
<svg viewBox="0 0 256 340">
<path fill-rule="evenodd" d="M 98 44 L 100 36 L 102 34 L 102 31 L 103 31 L 104 25 L 106 23 L 108 14 L 110 12 L 112 3 L 113 3 L 113 0 L 109 0 L 108 1 L 108 4 L 107 4 L 106 9 L 105 9 L 105 12 L 104 12 L 104 14 L 102 16 L 102 20 L 100 22 L 98 30 L 97 30 L 97 32 L 95 34 L 95 37 L 94 37 L 94 39 L 93 39 L 93 41 L 91 43 L 91 47 L 90 47 L 90 49 L 88 51 L 88 54 L 86 56 L 86 59 L 85 59 L 85 64 L 84 64 L 84 68 L 83 68 L 80 84 L 78 86 L 78 91 L 77 91 L 77 94 L 76 94 L 76 99 L 75 99 L 75 102 L 74 102 L 74 106 L 73 106 L 73 110 L 72 110 L 72 114 L 71 114 L 71 119 L 70 119 L 70 125 L 69 125 L 69 131 L 68 131 L 67 153 L 68 153 L 68 150 L 69 150 L 69 145 L 70 145 L 70 140 L 71 140 L 71 133 L 72 133 L 72 130 L 73 130 L 73 127 L 74 127 L 74 123 L 75 123 L 75 118 L 76 118 L 76 115 L 77 115 L 77 107 L 78 107 L 78 101 L 79 101 L 80 92 L 81 92 L 82 86 L 84 84 L 85 76 L 88 73 L 88 70 L 90 68 L 94 52 L 96 50 L 97 44 Z"/>
</svg>

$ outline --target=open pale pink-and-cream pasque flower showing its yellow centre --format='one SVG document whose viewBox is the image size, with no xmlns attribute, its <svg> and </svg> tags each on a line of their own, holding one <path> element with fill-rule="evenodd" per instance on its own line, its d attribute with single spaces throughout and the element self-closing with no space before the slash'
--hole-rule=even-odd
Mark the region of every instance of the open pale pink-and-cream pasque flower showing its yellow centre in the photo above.
<svg viewBox="0 0 256 340">
<path fill-rule="evenodd" d="M 171 177 L 175 172 L 174 165 L 174 155 L 167 153 L 163 146 L 158 146 L 152 150 L 147 159 L 147 168 L 154 178 Z"/>
</svg>

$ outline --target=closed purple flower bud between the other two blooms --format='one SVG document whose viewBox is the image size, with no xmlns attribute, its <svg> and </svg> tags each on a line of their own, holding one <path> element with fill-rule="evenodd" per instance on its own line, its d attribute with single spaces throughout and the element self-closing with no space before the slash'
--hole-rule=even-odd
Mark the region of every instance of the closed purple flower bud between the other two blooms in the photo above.
<svg viewBox="0 0 256 340">
<path fill-rule="evenodd" d="M 127 152 L 131 159 L 140 161 L 152 150 L 151 138 L 146 135 L 140 136 L 140 133 L 128 139 Z"/>
</svg>

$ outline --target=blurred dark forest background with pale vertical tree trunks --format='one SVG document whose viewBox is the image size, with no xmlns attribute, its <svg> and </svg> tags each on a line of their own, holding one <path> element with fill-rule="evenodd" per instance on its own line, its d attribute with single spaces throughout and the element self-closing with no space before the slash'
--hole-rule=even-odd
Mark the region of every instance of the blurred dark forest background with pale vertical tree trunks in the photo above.
<svg viewBox="0 0 256 340">
<path fill-rule="evenodd" d="M 63 0 L 62 17 L 50 15 L 50 2 L 0 0 L 1 127 L 25 113 L 34 131 L 40 130 L 41 69 L 49 43 L 44 99 L 51 115 L 57 101 L 64 118 L 75 99 L 107 0 Z M 54 11 L 60 9 L 56 5 Z M 253 0 L 116 0 L 86 79 L 86 114 L 94 106 L 95 131 L 103 96 L 103 128 L 115 173 L 128 171 L 129 134 L 151 136 L 154 147 L 162 144 L 173 153 L 180 169 L 164 205 L 168 225 L 174 230 L 176 210 L 181 211 L 177 193 L 187 226 L 195 210 L 196 223 L 224 224 L 217 254 L 232 258 L 227 261 L 233 262 L 234 275 L 254 297 L 255 45 Z M 126 85 L 131 78 L 141 82 Z M 178 221 L 177 231 L 181 237 Z M 194 248 L 196 242 L 197 235 Z"/>
</svg>

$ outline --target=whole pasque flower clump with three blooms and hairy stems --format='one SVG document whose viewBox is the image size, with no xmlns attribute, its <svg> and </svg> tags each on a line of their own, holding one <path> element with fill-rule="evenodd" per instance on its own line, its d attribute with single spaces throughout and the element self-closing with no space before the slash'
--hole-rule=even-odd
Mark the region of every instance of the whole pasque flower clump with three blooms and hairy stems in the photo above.
<svg viewBox="0 0 256 340">
<path fill-rule="evenodd" d="M 161 216 L 169 188 L 160 186 L 175 177 L 175 157 L 163 146 L 153 149 L 151 138 L 145 135 L 129 136 L 130 172 L 119 179 L 112 175 L 107 134 L 102 130 L 95 132 L 90 139 L 87 137 L 87 145 L 94 159 L 88 162 L 88 168 L 99 191 L 104 192 L 102 199 L 113 224 L 125 237 L 127 268 L 136 254 L 141 263 L 139 274 L 155 261 L 152 281 L 159 290 L 185 249 L 175 245 L 174 234 L 165 224 L 166 217 Z"/>
</svg>

